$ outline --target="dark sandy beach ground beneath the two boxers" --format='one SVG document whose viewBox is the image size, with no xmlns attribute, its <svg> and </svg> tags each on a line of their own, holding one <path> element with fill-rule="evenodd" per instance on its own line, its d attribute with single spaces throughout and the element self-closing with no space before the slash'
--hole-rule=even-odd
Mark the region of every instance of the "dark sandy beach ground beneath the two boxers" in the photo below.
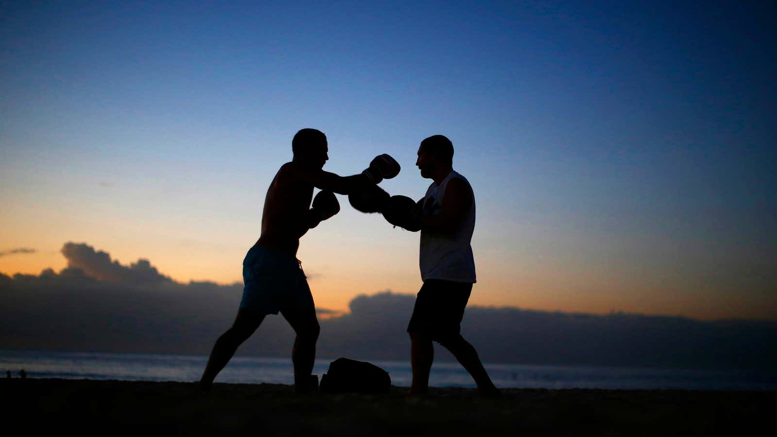
<svg viewBox="0 0 777 437">
<path fill-rule="evenodd" d="M 771 434 L 775 392 L 471 389 L 295 396 L 291 386 L 2 379 L 3 429 L 76 435 L 752 435 Z M 769 431 L 767 431 L 769 430 Z M 4 433 L 5 434 L 5 433 Z M 235 433 L 236 434 L 236 433 Z"/>
</svg>

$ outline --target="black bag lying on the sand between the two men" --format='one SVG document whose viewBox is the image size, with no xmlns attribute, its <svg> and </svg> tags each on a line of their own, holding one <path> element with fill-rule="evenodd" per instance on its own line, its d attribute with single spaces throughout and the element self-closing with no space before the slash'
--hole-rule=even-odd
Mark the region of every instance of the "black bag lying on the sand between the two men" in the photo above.
<svg viewBox="0 0 777 437">
<path fill-rule="evenodd" d="M 337 358 L 321 377 L 322 393 L 389 393 L 389 372 L 369 362 Z"/>
</svg>

